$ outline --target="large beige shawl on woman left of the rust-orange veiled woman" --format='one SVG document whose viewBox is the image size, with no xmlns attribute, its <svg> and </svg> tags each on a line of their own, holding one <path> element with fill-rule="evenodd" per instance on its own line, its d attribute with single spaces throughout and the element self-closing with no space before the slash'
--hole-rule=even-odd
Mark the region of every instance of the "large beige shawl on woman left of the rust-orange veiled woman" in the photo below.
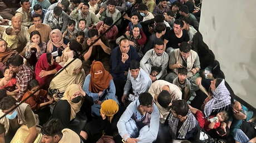
<svg viewBox="0 0 256 143">
<path fill-rule="evenodd" d="M 70 58 L 65 63 L 65 67 L 68 63 L 70 63 L 73 58 Z M 83 81 L 85 80 L 85 72 L 83 69 L 79 74 L 73 73 L 74 70 L 82 67 L 82 61 L 80 59 L 75 59 L 72 64 L 68 65 L 64 70 L 61 71 L 55 78 L 52 79 L 50 83 L 51 89 L 58 89 L 60 93 L 63 93 L 67 86 L 71 84 L 83 85 Z M 60 72 L 60 71 L 59 71 Z"/>
</svg>

